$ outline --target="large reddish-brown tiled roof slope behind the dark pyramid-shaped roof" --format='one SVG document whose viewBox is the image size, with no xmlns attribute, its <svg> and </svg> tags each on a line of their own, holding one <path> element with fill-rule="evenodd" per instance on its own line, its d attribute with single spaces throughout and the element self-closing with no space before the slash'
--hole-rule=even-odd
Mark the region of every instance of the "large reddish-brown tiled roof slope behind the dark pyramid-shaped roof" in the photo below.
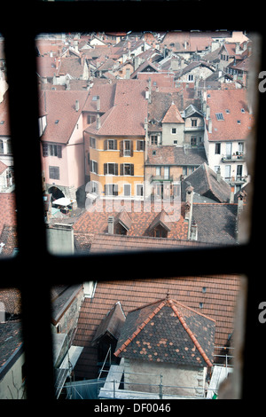
<svg viewBox="0 0 266 417">
<path fill-rule="evenodd" d="M 161 295 L 168 292 L 171 299 L 178 300 L 178 303 L 210 319 L 215 319 L 215 345 L 225 345 L 233 331 L 239 285 L 240 278 L 235 275 L 98 282 L 94 297 L 85 298 L 82 303 L 74 336 L 74 345 L 84 347 L 74 367 L 75 377 L 98 377 L 97 348 L 91 346 L 91 342 L 98 326 L 117 302 L 121 303 L 127 316 L 129 311 L 142 308 L 147 303 L 158 303 Z M 144 347 L 147 349 L 147 345 Z"/>
</svg>

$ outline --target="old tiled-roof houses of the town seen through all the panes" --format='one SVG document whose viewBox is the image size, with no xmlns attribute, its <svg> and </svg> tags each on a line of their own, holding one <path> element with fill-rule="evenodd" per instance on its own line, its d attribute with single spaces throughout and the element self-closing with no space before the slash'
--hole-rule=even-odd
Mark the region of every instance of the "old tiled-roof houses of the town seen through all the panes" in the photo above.
<svg viewBox="0 0 266 417">
<path fill-rule="evenodd" d="M 43 201 L 52 252 L 239 242 L 254 123 L 246 92 L 251 46 L 242 32 L 226 31 L 36 40 Z M 1 74 L 0 251 L 11 255 L 16 219 L 4 65 Z M 64 210 L 54 207 L 60 198 Z M 157 395 L 152 380 L 137 376 L 141 371 L 163 375 L 165 394 L 206 397 L 215 346 L 230 345 L 239 286 L 239 277 L 223 276 L 112 285 L 90 280 L 54 288 L 57 396 L 71 375 L 63 360 L 68 351 L 76 380 L 97 379 L 109 352 L 110 366 L 118 366 L 115 372 L 127 384 L 121 396 L 139 390 Z M 0 383 L 3 397 L 10 391 L 21 396 L 20 309 L 12 312 L 20 302 L 13 303 L 12 292 L 0 295 L 0 306 L 10 309 L 0 324 Z M 144 382 L 141 389 L 136 381 Z M 110 397 L 106 383 L 102 397 Z"/>
</svg>

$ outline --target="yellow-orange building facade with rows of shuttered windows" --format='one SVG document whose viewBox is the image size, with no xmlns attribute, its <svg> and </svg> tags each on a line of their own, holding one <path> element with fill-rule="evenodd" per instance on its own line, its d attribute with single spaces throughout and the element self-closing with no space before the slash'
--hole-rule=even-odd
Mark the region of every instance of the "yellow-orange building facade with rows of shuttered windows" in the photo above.
<svg viewBox="0 0 266 417">
<path fill-rule="evenodd" d="M 142 198 L 145 137 L 105 137 L 84 132 L 86 177 L 100 197 Z"/>
</svg>

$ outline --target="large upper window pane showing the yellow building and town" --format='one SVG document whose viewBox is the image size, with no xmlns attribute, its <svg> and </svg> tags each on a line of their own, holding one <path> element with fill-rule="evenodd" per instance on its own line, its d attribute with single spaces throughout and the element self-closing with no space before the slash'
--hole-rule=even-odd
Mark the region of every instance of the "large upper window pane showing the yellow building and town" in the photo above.
<svg viewBox="0 0 266 417">
<path fill-rule="evenodd" d="M 238 245 L 253 180 L 254 38 L 112 36 L 36 39 L 51 250 L 90 253 L 98 235 L 109 239 L 109 217 L 115 245 L 106 250 L 125 248 L 121 239 L 141 248 L 143 237 L 153 248 L 154 236 L 160 248 Z M 122 216 L 130 221 L 121 237 Z"/>
</svg>

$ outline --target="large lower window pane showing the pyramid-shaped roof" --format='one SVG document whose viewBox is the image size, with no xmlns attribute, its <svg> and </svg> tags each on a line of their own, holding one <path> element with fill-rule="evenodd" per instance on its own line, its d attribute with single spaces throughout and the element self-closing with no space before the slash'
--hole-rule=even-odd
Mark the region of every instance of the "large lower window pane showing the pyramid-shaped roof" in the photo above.
<svg viewBox="0 0 266 417">
<path fill-rule="evenodd" d="M 246 279 L 238 275 L 53 287 L 56 396 L 222 398 L 222 382 L 241 377 L 236 341 L 243 337 L 245 294 Z M 67 354 L 64 338 L 72 341 Z M 233 383 L 232 398 L 239 388 Z"/>
</svg>

